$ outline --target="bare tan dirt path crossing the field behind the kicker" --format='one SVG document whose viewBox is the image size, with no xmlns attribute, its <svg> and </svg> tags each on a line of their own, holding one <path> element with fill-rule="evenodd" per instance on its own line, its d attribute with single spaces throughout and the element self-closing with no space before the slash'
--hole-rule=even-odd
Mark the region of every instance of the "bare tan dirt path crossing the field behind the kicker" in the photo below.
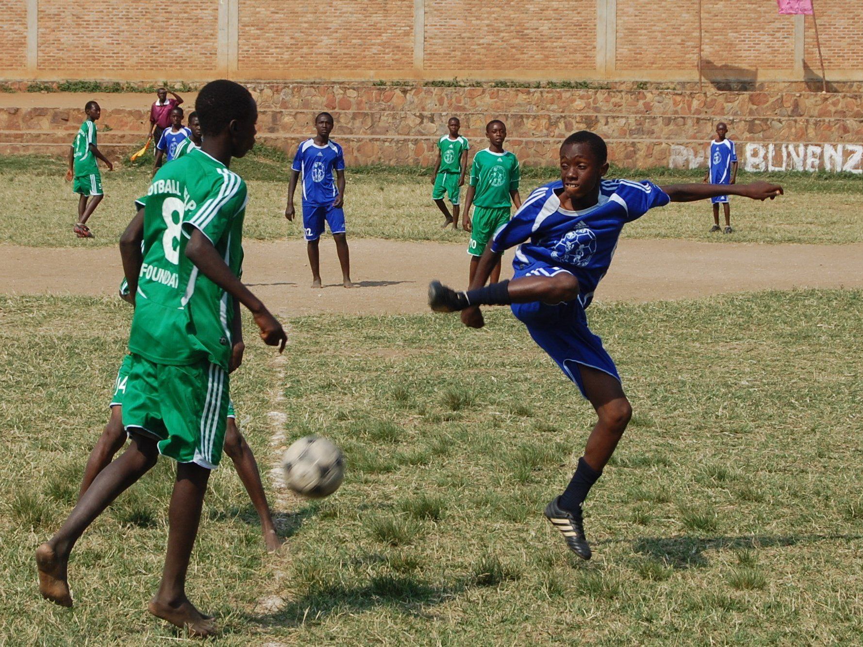
<svg viewBox="0 0 863 647">
<path fill-rule="evenodd" d="M 285 316 L 424 312 L 429 280 L 438 278 L 452 286 L 467 282 L 463 245 L 356 239 L 350 241 L 351 273 L 359 287 L 345 290 L 337 283 L 332 242 L 321 247 L 321 290 L 309 287 L 302 241 L 246 242 L 244 279 L 271 309 Z M 507 261 L 511 259 L 507 254 Z M 6 294 L 114 294 L 121 274 L 119 253 L 113 248 L 0 245 L 0 292 Z M 792 287 L 863 287 L 863 244 L 625 240 L 596 298 L 652 301 Z"/>
</svg>

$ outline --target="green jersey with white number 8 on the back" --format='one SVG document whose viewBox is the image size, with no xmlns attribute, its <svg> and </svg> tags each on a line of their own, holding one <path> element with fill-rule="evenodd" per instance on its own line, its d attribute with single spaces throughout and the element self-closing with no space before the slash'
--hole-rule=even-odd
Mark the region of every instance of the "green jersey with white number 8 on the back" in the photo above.
<svg viewBox="0 0 863 647">
<path fill-rule="evenodd" d="M 233 300 L 186 258 L 200 230 L 236 277 L 243 266 L 246 183 L 196 148 L 156 173 L 144 207 L 144 252 L 129 351 L 156 364 L 209 360 L 227 369 Z"/>
</svg>

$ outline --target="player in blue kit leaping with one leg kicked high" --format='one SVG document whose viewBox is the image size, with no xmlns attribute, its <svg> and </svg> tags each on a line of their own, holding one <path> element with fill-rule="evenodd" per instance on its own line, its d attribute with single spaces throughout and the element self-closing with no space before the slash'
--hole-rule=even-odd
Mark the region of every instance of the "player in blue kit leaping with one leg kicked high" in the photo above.
<svg viewBox="0 0 863 647">
<path fill-rule="evenodd" d="M 614 361 L 584 314 L 608 272 L 620 230 L 669 202 L 725 193 L 765 200 L 782 193 L 781 186 L 767 182 L 659 187 L 647 181 L 603 180 L 605 173 L 608 149 L 602 137 L 587 130 L 570 135 L 560 147 L 561 179 L 532 192 L 513 219 L 494 233 L 469 290 L 456 292 L 438 281 L 429 286 L 431 309 L 461 311 L 463 324 L 471 328 L 482 328 L 480 305 L 511 304 L 533 340 L 593 405 L 598 419 L 584 455 L 564 493 L 545 507 L 546 518 L 583 559 L 591 556 L 583 501 L 632 416 Z M 516 246 L 513 280 L 483 287 L 503 251 Z"/>
</svg>

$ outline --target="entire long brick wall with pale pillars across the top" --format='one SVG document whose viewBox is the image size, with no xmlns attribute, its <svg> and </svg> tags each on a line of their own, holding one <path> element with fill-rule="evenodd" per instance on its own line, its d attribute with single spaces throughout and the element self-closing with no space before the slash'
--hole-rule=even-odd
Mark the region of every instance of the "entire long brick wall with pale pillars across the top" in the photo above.
<svg viewBox="0 0 863 647">
<path fill-rule="evenodd" d="M 816 6 L 828 79 L 863 81 L 863 0 Z M 0 0 L 0 80 L 685 82 L 696 80 L 697 7 L 697 0 Z M 28 11 L 35 70 L 27 69 Z M 820 69 L 814 25 L 796 24 L 773 0 L 702 0 L 705 75 L 811 79 Z"/>
</svg>

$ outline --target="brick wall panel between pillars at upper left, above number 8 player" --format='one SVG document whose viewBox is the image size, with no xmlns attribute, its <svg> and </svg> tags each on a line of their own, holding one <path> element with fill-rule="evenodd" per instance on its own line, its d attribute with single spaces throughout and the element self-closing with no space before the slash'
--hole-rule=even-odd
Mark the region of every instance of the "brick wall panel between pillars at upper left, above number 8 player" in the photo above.
<svg viewBox="0 0 863 647">
<path fill-rule="evenodd" d="M 184 0 L 172 15 L 172 5 L 152 0 L 39 0 L 39 67 L 121 79 L 129 70 L 148 70 L 154 79 L 213 70 L 217 5 Z"/>
</svg>

